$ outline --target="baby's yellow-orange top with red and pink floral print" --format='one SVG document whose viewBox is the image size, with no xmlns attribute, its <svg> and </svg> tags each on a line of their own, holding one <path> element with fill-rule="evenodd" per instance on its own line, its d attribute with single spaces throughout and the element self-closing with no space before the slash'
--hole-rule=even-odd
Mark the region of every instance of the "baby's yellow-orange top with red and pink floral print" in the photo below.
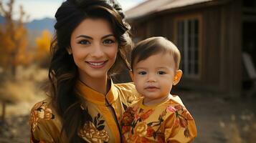
<svg viewBox="0 0 256 143">
<path fill-rule="evenodd" d="M 123 142 L 191 142 L 197 135 L 193 117 L 178 96 L 152 107 L 143 99 L 128 107 L 121 119 Z"/>
</svg>

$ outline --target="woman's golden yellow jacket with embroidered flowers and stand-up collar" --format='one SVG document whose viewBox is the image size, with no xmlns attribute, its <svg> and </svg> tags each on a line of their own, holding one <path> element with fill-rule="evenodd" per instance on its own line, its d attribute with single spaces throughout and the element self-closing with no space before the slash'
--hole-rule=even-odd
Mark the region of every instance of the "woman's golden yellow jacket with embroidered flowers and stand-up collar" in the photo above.
<svg viewBox="0 0 256 143">
<path fill-rule="evenodd" d="M 82 82 L 76 84 L 77 93 L 84 99 L 81 108 L 90 114 L 90 122 L 84 124 L 77 134 L 87 142 L 120 142 L 120 119 L 125 109 L 134 102 L 138 102 L 139 94 L 133 83 L 113 84 L 110 91 L 100 94 L 87 87 Z M 110 106 L 113 108 L 110 111 Z M 60 132 L 62 123 L 60 117 L 52 108 L 50 99 L 34 105 L 30 114 L 31 139 L 30 142 L 67 142 L 67 137 Z"/>
</svg>

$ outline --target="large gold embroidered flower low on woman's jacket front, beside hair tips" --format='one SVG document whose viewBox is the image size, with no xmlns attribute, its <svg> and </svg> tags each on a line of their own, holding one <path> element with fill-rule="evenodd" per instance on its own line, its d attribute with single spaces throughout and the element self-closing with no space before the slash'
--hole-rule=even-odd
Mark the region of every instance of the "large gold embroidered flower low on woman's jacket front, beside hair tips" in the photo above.
<svg viewBox="0 0 256 143">
<path fill-rule="evenodd" d="M 87 142 L 108 142 L 109 135 L 108 132 L 105 131 L 105 129 L 102 129 L 99 131 L 96 129 L 95 125 L 92 122 L 85 123 L 84 127 L 80 129 L 80 132 L 78 132 L 80 137 L 85 139 Z"/>
</svg>

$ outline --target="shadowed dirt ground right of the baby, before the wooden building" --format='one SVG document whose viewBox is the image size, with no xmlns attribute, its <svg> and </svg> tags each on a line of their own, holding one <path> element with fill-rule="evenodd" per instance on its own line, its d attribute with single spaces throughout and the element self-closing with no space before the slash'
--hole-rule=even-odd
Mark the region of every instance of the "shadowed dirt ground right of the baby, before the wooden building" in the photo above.
<svg viewBox="0 0 256 143">
<path fill-rule="evenodd" d="M 185 106 L 196 121 L 196 143 L 255 143 L 256 96 L 223 97 L 224 95 L 181 92 Z"/>
</svg>

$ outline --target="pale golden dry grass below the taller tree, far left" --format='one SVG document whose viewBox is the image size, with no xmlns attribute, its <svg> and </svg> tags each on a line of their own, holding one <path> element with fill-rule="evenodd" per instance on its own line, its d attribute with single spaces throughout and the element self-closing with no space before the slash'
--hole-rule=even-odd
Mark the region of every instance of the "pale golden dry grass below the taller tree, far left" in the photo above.
<svg viewBox="0 0 256 143">
<path fill-rule="evenodd" d="M 0 99 L 9 103 L 6 107 L 7 116 L 28 114 L 34 103 L 45 98 L 41 85 L 47 79 L 46 69 L 19 67 L 16 75 L 15 82 L 6 79 L 0 87 Z"/>
</svg>

